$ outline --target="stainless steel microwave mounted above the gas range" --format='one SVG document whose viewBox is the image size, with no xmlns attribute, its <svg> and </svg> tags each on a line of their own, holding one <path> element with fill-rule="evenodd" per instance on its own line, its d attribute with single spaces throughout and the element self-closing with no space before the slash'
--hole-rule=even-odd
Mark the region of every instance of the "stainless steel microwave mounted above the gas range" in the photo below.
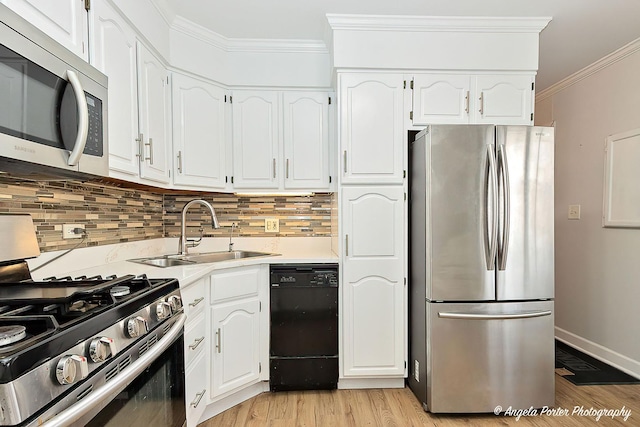
<svg viewBox="0 0 640 427">
<path fill-rule="evenodd" d="M 107 77 L 1 4 L 0 17 L 0 171 L 108 176 Z"/>
</svg>

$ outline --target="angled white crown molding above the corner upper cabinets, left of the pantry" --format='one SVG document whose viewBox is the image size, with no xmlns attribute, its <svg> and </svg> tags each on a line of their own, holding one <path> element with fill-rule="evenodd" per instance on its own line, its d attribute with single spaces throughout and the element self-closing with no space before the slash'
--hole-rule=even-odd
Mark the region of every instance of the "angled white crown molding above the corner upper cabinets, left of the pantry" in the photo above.
<svg viewBox="0 0 640 427">
<path fill-rule="evenodd" d="M 171 29 L 196 38 L 225 52 L 329 53 L 327 45 L 321 40 L 227 38 L 181 16 L 175 17 L 171 24 Z"/>
</svg>

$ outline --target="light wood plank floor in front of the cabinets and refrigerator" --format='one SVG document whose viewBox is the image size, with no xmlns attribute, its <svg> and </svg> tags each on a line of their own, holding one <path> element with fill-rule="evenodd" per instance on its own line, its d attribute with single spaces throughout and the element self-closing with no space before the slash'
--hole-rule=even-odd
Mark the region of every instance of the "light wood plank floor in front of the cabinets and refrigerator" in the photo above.
<svg viewBox="0 0 640 427">
<path fill-rule="evenodd" d="M 602 416 L 571 415 L 585 410 L 631 411 L 625 422 Z M 360 427 L 360 426 L 640 426 L 640 385 L 575 386 L 556 376 L 556 408 L 567 416 L 433 415 L 426 413 L 411 390 L 373 389 L 262 393 L 211 418 L 199 427 Z"/>
</svg>

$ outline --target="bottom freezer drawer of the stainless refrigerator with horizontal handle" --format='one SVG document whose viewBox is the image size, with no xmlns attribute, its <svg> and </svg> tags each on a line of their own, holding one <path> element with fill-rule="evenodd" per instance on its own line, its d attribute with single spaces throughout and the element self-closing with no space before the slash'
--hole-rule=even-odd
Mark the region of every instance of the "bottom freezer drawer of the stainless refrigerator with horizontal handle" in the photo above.
<svg viewBox="0 0 640 427">
<path fill-rule="evenodd" d="M 553 406 L 553 301 L 427 302 L 427 409 Z"/>
</svg>

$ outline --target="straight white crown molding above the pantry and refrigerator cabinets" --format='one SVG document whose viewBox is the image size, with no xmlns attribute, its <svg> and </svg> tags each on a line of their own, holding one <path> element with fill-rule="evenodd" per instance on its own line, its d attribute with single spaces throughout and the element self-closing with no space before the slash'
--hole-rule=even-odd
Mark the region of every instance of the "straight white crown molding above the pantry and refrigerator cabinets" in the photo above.
<svg viewBox="0 0 640 427">
<path fill-rule="evenodd" d="M 550 17 L 345 15 L 328 13 L 333 30 L 539 33 Z"/>
</svg>

